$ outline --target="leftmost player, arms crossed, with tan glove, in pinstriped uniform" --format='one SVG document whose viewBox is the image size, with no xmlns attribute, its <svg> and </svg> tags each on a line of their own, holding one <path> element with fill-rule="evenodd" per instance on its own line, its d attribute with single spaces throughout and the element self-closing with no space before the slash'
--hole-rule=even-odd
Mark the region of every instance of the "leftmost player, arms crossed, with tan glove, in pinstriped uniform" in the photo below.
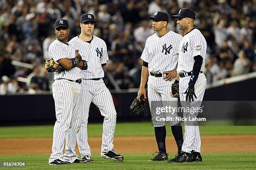
<svg viewBox="0 0 256 170">
<path fill-rule="evenodd" d="M 49 165 L 67 165 L 77 160 L 76 134 L 81 126 L 82 70 L 77 64 L 81 55 L 73 45 L 67 43 L 69 23 L 56 20 L 56 40 L 49 46 L 49 58 L 66 70 L 54 73 L 52 92 L 55 102 L 56 122 L 54 125 L 52 153 Z M 64 141 L 66 140 L 63 155 Z"/>
</svg>

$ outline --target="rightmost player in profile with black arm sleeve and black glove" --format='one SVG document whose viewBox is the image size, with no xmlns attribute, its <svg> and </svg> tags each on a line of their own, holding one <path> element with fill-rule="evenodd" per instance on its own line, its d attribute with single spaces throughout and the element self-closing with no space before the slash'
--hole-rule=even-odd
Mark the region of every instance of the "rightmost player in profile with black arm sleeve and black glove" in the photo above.
<svg viewBox="0 0 256 170">
<path fill-rule="evenodd" d="M 199 108 L 205 93 L 206 41 L 202 33 L 194 28 L 195 12 L 190 8 L 182 8 L 178 15 L 179 30 L 185 35 L 179 46 L 179 60 L 177 80 L 179 80 L 179 96 L 182 107 Z M 177 94 L 172 94 L 172 96 Z M 195 98 L 194 98 L 195 97 Z M 184 112 L 184 117 L 196 117 L 198 112 Z M 169 163 L 199 162 L 201 140 L 197 122 L 184 121 L 185 134 L 182 150 Z M 189 153 L 190 152 L 190 153 Z"/>
</svg>

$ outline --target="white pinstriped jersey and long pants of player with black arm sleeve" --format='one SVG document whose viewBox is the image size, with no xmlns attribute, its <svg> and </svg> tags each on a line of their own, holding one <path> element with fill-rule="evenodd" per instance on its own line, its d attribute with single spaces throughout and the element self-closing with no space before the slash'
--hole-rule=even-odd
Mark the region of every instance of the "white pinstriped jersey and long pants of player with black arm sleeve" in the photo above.
<svg viewBox="0 0 256 170">
<path fill-rule="evenodd" d="M 186 48 L 187 45 L 187 48 Z M 197 55 L 201 55 L 203 58 L 203 63 L 201 67 L 201 71 L 205 69 L 205 53 L 206 53 L 206 41 L 205 37 L 203 37 L 202 33 L 193 29 L 184 35 L 181 44 L 179 46 L 179 60 L 177 72 L 192 72 L 194 65 L 194 57 Z M 186 102 L 186 94 L 184 92 L 187 90 L 188 83 L 190 80 L 190 76 L 180 77 L 179 79 L 179 96 L 182 103 L 182 107 L 200 107 L 202 103 L 203 96 L 205 94 L 206 87 L 206 77 L 203 73 L 198 75 L 198 79 L 195 83 L 195 95 L 197 99 L 194 97 L 194 102 Z M 189 112 L 184 112 L 184 117 L 196 117 L 197 113 L 191 115 Z M 190 152 L 191 150 L 195 150 L 196 152 L 201 152 L 201 139 L 200 132 L 197 122 L 189 122 L 184 121 L 185 125 L 185 134 L 184 134 L 184 142 L 182 145 L 182 150 L 184 152 Z"/>
</svg>

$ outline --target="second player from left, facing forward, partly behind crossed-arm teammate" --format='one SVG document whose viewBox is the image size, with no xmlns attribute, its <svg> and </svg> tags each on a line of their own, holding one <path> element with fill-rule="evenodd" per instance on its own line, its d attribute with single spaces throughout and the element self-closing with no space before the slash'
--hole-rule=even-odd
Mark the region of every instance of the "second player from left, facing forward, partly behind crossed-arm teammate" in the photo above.
<svg viewBox="0 0 256 170">
<path fill-rule="evenodd" d="M 88 69 L 83 70 L 82 81 L 82 126 L 77 134 L 77 143 L 83 162 L 92 162 L 90 146 L 87 142 L 87 122 L 89 107 L 93 102 L 104 116 L 101 156 L 122 161 L 123 156 L 113 150 L 113 140 L 116 124 L 116 111 L 110 91 L 102 80 L 103 66 L 108 61 L 106 43 L 92 35 L 96 21 L 94 15 L 83 14 L 80 18 L 81 34 L 69 42 L 78 47 L 82 58 L 88 61 Z"/>
</svg>

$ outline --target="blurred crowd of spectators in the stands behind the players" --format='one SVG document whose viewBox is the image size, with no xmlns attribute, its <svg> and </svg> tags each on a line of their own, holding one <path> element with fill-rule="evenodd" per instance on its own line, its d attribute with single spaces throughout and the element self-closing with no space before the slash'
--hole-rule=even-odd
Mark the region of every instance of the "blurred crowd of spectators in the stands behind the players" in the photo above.
<svg viewBox="0 0 256 170">
<path fill-rule="evenodd" d="M 108 47 L 107 87 L 137 88 L 140 56 L 146 38 L 154 34 L 147 17 L 164 11 L 168 29 L 183 35 L 172 18 L 182 7 L 195 10 L 195 28 L 207 41 L 207 83 L 256 70 L 256 0 L 0 0 L 0 94 L 50 90 L 43 63 L 56 38 L 54 22 L 69 21 L 70 40 L 80 34 L 83 13 L 95 15 L 94 35 Z M 17 69 L 13 60 L 34 68 Z"/>
</svg>

